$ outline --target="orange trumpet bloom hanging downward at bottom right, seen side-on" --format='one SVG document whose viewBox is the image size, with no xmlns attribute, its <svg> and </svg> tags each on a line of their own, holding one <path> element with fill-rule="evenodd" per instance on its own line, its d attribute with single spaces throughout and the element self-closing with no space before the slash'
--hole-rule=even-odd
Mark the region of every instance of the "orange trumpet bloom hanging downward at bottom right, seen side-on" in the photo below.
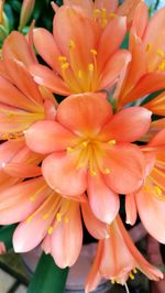
<svg viewBox="0 0 165 293">
<path fill-rule="evenodd" d="M 101 278 L 111 280 L 113 284 L 117 282 L 124 285 L 129 278 L 134 279 L 136 269 L 151 280 L 163 279 L 163 273 L 150 264 L 136 249 L 118 216 L 109 226 L 109 238 L 99 241 L 85 292 L 95 290 Z"/>
</svg>

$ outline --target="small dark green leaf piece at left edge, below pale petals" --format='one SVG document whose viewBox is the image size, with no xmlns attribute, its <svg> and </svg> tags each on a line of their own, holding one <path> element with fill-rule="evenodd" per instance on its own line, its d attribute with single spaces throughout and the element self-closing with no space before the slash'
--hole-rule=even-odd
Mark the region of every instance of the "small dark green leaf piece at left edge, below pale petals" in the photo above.
<svg viewBox="0 0 165 293">
<path fill-rule="evenodd" d="M 3 226 L 0 229 L 0 241 L 3 241 L 7 250 L 12 248 L 12 236 L 16 225 Z"/>
</svg>

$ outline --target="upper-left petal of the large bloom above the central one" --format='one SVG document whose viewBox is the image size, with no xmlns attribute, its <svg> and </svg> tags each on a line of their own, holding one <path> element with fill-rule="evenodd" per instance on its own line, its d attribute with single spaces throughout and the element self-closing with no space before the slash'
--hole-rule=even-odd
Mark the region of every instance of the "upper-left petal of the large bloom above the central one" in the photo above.
<svg viewBox="0 0 165 293">
<path fill-rule="evenodd" d="M 59 73 L 61 63 L 58 57 L 62 54 L 54 41 L 53 35 L 45 29 L 35 29 L 33 31 L 33 39 L 37 53 L 55 72 Z"/>
</svg>

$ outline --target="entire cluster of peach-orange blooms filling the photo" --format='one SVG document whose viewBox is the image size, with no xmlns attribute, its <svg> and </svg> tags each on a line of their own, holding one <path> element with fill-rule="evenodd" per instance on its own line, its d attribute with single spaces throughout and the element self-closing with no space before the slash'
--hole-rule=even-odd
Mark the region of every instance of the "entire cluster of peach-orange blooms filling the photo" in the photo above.
<svg viewBox="0 0 165 293">
<path fill-rule="evenodd" d="M 151 19 L 138 0 L 53 9 L 53 34 L 33 23 L 2 46 L 0 225 L 19 223 L 16 252 L 41 243 L 66 268 L 80 253 L 84 221 L 99 240 L 86 292 L 102 276 L 125 284 L 136 269 L 158 281 L 119 210 L 124 198 L 125 221 L 139 215 L 165 243 L 165 9 Z"/>
</svg>

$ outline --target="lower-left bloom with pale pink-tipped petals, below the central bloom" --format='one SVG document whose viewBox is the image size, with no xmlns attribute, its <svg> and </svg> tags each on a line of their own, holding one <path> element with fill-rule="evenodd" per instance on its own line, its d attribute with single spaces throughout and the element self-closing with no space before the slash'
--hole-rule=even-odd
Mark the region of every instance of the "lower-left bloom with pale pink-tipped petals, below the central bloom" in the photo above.
<svg viewBox="0 0 165 293">
<path fill-rule="evenodd" d="M 13 235 L 15 252 L 26 252 L 42 242 L 61 268 L 77 260 L 82 246 L 81 214 L 89 232 L 108 236 L 107 225 L 92 215 L 85 195 L 65 198 L 42 176 L 15 184 L 0 193 L 0 224 L 20 223 Z"/>
</svg>

